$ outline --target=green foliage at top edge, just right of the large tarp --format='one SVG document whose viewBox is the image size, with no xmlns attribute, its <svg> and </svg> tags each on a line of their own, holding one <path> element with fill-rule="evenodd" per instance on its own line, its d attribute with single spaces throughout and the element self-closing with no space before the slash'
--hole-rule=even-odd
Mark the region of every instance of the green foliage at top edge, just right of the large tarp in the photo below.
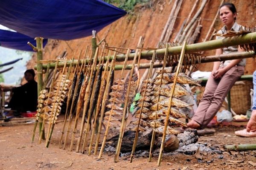
<svg viewBox="0 0 256 170">
<path fill-rule="evenodd" d="M 121 8 L 127 12 L 134 10 L 136 4 L 145 5 L 150 0 L 104 0 L 106 3 L 110 3 L 118 8 Z"/>
</svg>

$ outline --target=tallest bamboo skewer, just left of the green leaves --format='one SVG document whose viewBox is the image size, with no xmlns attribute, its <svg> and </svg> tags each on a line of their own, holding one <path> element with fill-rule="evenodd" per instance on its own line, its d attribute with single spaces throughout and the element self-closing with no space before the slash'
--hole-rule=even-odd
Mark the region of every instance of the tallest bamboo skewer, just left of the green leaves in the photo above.
<svg viewBox="0 0 256 170">
<path fill-rule="evenodd" d="M 143 42 L 143 38 L 140 37 L 140 40 L 139 40 L 139 43 L 138 43 L 139 47 L 142 46 L 141 45 L 142 42 Z M 123 109 L 123 115 L 122 115 L 122 123 L 121 123 L 121 127 L 120 127 L 119 139 L 118 139 L 118 143 L 117 143 L 117 146 L 116 146 L 116 154 L 115 154 L 115 159 L 114 159 L 115 162 L 117 162 L 118 159 L 119 159 L 119 153 L 120 153 L 121 144 L 122 144 L 122 137 L 123 137 L 123 133 L 125 131 L 126 120 L 127 120 L 125 118 L 125 115 L 126 115 L 127 106 L 128 106 L 128 99 L 129 99 L 129 93 L 130 93 L 130 87 L 131 87 L 131 78 L 132 78 L 132 75 L 133 75 L 133 71 L 134 71 L 135 62 L 136 62 L 136 59 L 137 59 L 138 52 L 139 52 L 139 49 L 136 50 L 135 55 L 134 55 L 133 65 L 132 65 L 132 68 L 131 68 L 130 77 L 129 77 L 129 81 L 128 81 L 128 87 L 127 87 L 127 90 L 126 90 L 125 103 L 124 103 L 124 109 Z M 140 62 L 140 61 L 138 61 L 138 62 Z M 138 80 L 138 81 L 140 81 L 140 80 Z"/>
</svg>

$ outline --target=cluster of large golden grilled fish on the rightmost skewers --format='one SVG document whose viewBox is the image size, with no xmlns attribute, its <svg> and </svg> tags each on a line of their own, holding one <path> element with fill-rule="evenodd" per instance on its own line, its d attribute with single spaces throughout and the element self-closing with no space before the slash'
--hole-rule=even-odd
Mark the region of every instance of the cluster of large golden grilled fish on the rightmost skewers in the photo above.
<svg viewBox="0 0 256 170">
<path fill-rule="evenodd" d="M 164 123 L 166 121 L 166 114 L 168 112 L 169 98 L 171 96 L 171 90 L 175 74 L 172 73 L 172 69 L 169 67 L 164 68 L 162 85 L 160 86 L 162 68 L 159 68 L 156 72 L 157 77 L 152 80 L 144 80 L 143 87 L 140 92 L 139 110 L 135 112 L 136 117 L 140 117 L 140 110 L 142 108 L 140 119 L 140 131 L 145 131 L 148 127 L 154 127 L 154 131 L 163 134 Z M 148 83 L 147 83 L 148 82 Z M 147 84 L 147 85 L 146 85 Z M 192 79 L 184 73 L 179 73 L 177 77 L 177 84 L 175 85 L 175 91 L 172 97 L 170 116 L 168 118 L 168 127 L 166 134 L 177 134 L 179 130 L 175 130 L 173 127 L 186 127 L 186 123 L 180 121 L 180 118 L 186 118 L 187 116 L 182 113 L 180 108 L 192 109 L 192 105 L 187 104 L 180 100 L 180 97 L 187 96 L 193 97 L 192 93 L 186 90 L 183 84 L 200 85 L 200 82 Z M 146 91 L 146 92 L 145 92 Z M 143 95 L 145 93 L 145 97 Z M 143 102 L 144 99 L 144 102 Z M 143 103 L 143 104 L 142 104 Z M 156 119 L 155 119 L 156 118 Z M 139 119 L 135 120 L 134 125 L 138 124 Z M 135 127 L 133 130 L 136 130 Z"/>
</svg>

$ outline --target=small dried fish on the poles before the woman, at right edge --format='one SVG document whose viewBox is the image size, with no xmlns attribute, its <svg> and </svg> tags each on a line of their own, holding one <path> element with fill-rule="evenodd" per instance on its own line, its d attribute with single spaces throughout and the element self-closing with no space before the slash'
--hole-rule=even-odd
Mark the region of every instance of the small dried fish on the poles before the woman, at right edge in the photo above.
<svg viewBox="0 0 256 170">
<path fill-rule="evenodd" d="M 215 35 L 220 37 L 235 37 L 239 35 L 248 34 L 251 32 L 256 32 L 256 27 L 241 26 L 239 28 L 239 31 L 227 31 L 227 33 L 225 34 L 215 34 Z M 244 44 L 240 46 L 241 48 L 244 48 L 244 50 L 247 52 L 256 51 L 256 43 Z"/>
</svg>

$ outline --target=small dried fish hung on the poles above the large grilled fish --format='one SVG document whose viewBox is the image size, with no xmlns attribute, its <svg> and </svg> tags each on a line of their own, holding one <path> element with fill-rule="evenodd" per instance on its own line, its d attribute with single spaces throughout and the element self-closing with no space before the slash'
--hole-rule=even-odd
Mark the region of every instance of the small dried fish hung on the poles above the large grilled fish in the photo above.
<svg viewBox="0 0 256 170">
<path fill-rule="evenodd" d="M 169 47 L 176 47 L 176 46 L 181 46 L 182 44 L 179 42 L 165 42 L 165 41 L 160 41 L 157 44 L 157 48 L 166 48 L 166 45 Z M 156 59 L 163 60 L 163 57 L 157 57 Z M 167 64 L 169 66 L 174 66 L 179 62 L 180 55 L 170 55 L 168 54 L 167 56 Z M 191 65 L 195 64 L 201 64 L 201 54 L 198 53 L 189 53 L 189 54 L 184 54 L 184 59 L 182 65 L 184 68 L 188 69 Z"/>
</svg>

